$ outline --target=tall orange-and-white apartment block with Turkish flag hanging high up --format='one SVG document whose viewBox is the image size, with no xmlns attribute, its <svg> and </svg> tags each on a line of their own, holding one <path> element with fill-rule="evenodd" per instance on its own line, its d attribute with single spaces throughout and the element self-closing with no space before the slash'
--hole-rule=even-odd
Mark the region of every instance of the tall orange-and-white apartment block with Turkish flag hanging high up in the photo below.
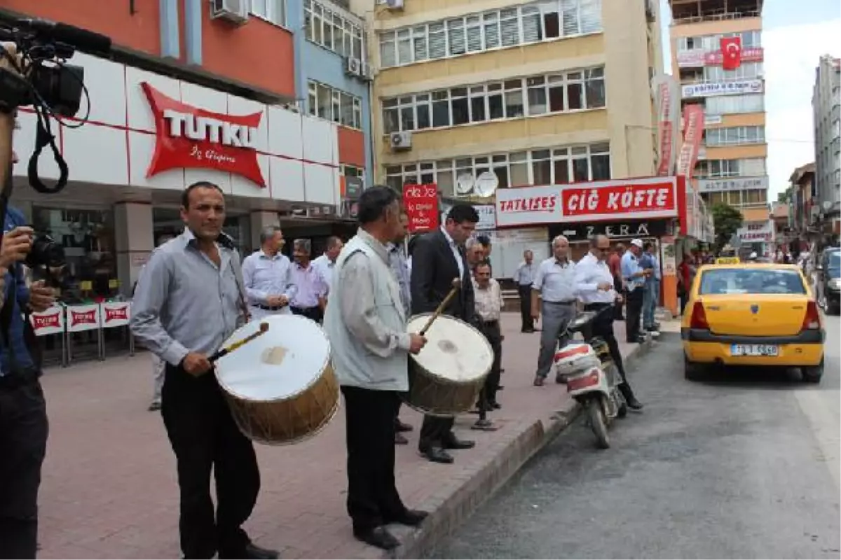
<svg viewBox="0 0 841 560">
<path fill-rule="evenodd" d="M 746 222 L 767 222 L 763 0 L 669 0 L 669 6 L 682 107 L 700 104 L 705 114 L 692 182 L 708 206 L 727 203 Z M 728 47 L 725 64 L 727 38 L 738 43 Z"/>
</svg>

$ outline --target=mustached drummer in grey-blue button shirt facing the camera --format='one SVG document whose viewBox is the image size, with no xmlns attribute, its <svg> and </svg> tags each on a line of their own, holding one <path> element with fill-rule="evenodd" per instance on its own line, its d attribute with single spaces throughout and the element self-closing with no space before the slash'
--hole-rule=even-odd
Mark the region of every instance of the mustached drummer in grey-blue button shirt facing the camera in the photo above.
<svg viewBox="0 0 841 560">
<path fill-rule="evenodd" d="M 175 452 L 184 560 L 273 560 L 242 530 L 260 490 L 251 441 L 236 427 L 208 356 L 247 320 L 240 255 L 222 233 L 219 186 L 181 196 L 184 233 L 151 255 L 137 283 L 131 331 L 167 363 L 161 415 Z M 210 471 L 216 478 L 216 510 Z"/>
</svg>

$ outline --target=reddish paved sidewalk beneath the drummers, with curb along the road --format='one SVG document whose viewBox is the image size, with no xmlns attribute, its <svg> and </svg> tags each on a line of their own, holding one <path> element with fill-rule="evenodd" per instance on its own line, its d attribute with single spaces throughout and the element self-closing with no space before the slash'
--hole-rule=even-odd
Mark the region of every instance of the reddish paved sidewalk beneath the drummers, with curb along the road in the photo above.
<svg viewBox="0 0 841 560">
<path fill-rule="evenodd" d="M 616 322 L 624 340 L 623 322 Z M 418 558 L 505 483 L 574 416 L 563 385 L 532 386 L 539 332 L 519 332 L 505 314 L 499 394 L 502 410 L 490 418 L 497 432 L 469 430 L 475 416 L 458 418 L 472 450 L 453 452 L 456 463 L 418 457 L 421 416 L 409 446 L 397 448 L 400 493 L 411 508 L 430 510 L 420 530 L 399 528 L 404 542 L 391 555 L 353 539 L 345 511 L 344 415 L 317 437 L 291 447 L 257 446 L 262 492 L 246 529 L 282 558 L 375 560 Z M 625 355 L 641 348 L 622 343 Z M 145 410 L 151 393 L 148 354 L 50 369 L 44 377 L 50 442 L 40 494 L 40 560 L 164 560 L 180 557 L 175 460 L 161 416 Z"/>
</svg>

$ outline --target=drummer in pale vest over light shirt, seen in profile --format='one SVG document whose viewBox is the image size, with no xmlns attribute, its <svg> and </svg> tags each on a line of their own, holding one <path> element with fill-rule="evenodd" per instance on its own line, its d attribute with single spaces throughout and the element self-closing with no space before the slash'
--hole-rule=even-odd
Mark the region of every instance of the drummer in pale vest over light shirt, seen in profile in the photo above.
<svg viewBox="0 0 841 560">
<path fill-rule="evenodd" d="M 425 511 L 407 510 L 394 483 L 394 411 L 409 390 L 409 353 L 426 338 L 406 332 L 407 317 L 386 243 L 402 231 L 397 193 L 385 186 L 362 192 L 360 228 L 333 271 L 336 282 L 325 312 L 333 367 L 345 396 L 347 513 L 353 535 L 390 550 L 399 541 L 386 525 L 417 526 Z"/>
</svg>

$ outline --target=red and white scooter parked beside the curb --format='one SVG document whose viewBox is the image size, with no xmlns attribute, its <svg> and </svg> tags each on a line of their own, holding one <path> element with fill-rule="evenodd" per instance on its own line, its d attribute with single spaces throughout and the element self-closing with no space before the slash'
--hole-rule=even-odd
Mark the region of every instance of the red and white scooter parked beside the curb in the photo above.
<svg viewBox="0 0 841 560">
<path fill-rule="evenodd" d="M 619 390 L 621 375 L 616 369 L 607 342 L 601 337 L 586 337 L 588 327 L 596 317 L 612 312 L 613 306 L 606 306 L 599 311 L 579 313 L 567 325 L 564 332 L 567 336 L 561 338 L 571 339 L 575 332 L 582 332 L 585 343 L 570 343 L 558 348 L 555 353 L 555 367 L 558 371 L 567 369 L 567 391 L 584 409 L 596 443 L 602 449 L 611 447 L 607 428 L 614 418 L 625 417 L 628 407 Z"/>
</svg>

